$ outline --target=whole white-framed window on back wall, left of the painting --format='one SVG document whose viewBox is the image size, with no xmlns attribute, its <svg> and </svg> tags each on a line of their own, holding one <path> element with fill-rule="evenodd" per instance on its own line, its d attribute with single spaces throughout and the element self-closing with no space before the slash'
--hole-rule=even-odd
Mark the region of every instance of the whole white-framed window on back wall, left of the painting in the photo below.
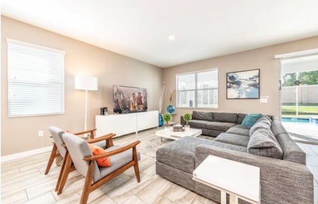
<svg viewBox="0 0 318 204">
<path fill-rule="evenodd" d="M 218 108 L 218 69 L 176 75 L 177 107 Z"/>
</svg>

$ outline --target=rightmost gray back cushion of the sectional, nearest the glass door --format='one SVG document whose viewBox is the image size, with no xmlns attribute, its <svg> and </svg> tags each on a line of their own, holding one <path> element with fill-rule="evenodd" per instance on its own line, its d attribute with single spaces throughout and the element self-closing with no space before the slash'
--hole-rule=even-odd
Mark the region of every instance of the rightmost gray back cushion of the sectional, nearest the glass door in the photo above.
<svg viewBox="0 0 318 204">
<path fill-rule="evenodd" d="M 289 136 L 277 117 L 272 117 L 271 130 L 284 151 L 283 160 L 306 165 L 306 153 Z"/>
</svg>

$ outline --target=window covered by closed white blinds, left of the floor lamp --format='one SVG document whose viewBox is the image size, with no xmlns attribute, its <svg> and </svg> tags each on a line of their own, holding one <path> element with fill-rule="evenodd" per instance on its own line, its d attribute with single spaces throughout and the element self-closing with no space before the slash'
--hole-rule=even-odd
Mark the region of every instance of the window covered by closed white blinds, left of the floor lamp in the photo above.
<svg viewBox="0 0 318 204">
<path fill-rule="evenodd" d="M 64 113 L 65 52 L 17 40 L 8 43 L 8 116 Z"/>
</svg>

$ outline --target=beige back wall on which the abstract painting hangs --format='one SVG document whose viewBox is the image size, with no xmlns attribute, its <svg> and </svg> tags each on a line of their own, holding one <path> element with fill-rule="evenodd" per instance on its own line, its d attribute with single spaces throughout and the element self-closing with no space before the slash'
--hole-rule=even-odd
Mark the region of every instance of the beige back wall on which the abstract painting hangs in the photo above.
<svg viewBox="0 0 318 204">
<path fill-rule="evenodd" d="M 279 60 L 274 60 L 274 55 L 314 48 L 318 48 L 318 36 L 165 68 L 163 81 L 169 91 L 175 89 L 176 74 L 219 68 L 219 108 L 196 110 L 279 115 Z M 256 99 L 227 100 L 226 73 L 251 69 L 260 69 L 260 96 L 269 96 L 268 103 L 260 103 Z M 164 108 L 168 105 L 168 97 L 165 99 Z M 180 120 L 181 115 L 192 110 L 194 109 L 176 108 L 176 121 Z"/>
</svg>

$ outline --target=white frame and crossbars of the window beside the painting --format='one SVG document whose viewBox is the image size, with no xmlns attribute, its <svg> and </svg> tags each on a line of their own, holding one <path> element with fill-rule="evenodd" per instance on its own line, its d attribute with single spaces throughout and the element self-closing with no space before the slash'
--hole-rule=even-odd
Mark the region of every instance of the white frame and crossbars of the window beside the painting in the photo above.
<svg viewBox="0 0 318 204">
<path fill-rule="evenodd" d="M 209 72 L 209 71 L 217 71 L 218 72 L 218 87 L 217 88 L 204 88 L 204 89 L 198 89 L 198 73 L 202 72 Z M 188 74 L 195 74 L 194 77 L 194 83 L 195 88 L 189 89 L 189 90 L 178 90 L 178 76 L 182 75 L 188 75 Z M 176 108 L 189 108 L 189 109 L 219 109 L 219 68 L 212 68 L 212 69 L 206 69 L 206 70 L 200 70 L 200 71 L 194 71 L 194 72 L 186 72 L 186 73 L 180 73 L 175 75 L 175 106 Z M 218 107 L 198 107 L 198 91 L 204 91 L 204 90 L 218 90 Z M 194 91 L 194 107 L 184 107 L 184 106 L 178 106 L 178 93 L 179 92 L 187 92 L 187 91 Z"/>
</svg>

